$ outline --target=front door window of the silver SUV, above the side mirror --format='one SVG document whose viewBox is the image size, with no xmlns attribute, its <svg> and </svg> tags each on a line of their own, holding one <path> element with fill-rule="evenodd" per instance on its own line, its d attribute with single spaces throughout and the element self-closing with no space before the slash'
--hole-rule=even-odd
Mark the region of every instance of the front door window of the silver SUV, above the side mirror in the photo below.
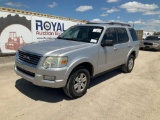
<svg viewBox="0 0 160 120">
<path fill-rule="evenodd" d="M 103 40 L 113 40 L 117 44 L 117 36 L 114 28 L 108 28 L 104 34 Z"/>
</svg>

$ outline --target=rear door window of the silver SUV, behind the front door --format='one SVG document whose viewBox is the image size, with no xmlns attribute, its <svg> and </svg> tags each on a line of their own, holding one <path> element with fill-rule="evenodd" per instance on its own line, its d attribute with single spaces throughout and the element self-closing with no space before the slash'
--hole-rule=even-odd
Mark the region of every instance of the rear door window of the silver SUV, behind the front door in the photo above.
<svg viewBox="0 0 160 120">
<path fill-rule="evenodd" d="M 129 41 L 129 37 L 125 28 L 116 28 L 118 43 L 125 43 Z"/>
</svg>

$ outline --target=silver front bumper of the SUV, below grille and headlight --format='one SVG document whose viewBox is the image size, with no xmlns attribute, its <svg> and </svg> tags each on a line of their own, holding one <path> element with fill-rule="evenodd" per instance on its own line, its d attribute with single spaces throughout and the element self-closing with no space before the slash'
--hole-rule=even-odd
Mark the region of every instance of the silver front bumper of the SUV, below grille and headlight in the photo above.
<svg viewBox="0 0 160 120">
<path fill-rule="evenodd" d="M 26 66 L 16 60 L 14 68 L 17 75 L 21 76 L 27 81 L 32 82 L 37 86 L 61 88 L 64 87 L 67 82 L 67 79 L 65 79 L 67 67 L 54 69 L 38 69 Z M 54 76 L 55 80 L 45 80 L 44 76 Z"/>
</svg>

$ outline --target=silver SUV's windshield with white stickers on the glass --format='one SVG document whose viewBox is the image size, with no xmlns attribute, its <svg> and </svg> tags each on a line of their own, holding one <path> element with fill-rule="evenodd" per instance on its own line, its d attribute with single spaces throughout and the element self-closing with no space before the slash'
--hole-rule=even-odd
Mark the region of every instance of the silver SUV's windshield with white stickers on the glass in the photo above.
<svg viewBox="0 0 160 120">
<path fill-rule="evenodd" d="M 57 38 L 78 42 L 97 43 L 102 31 L 103 27 L 98 26 L 73 26 L 64 31 Z"/>
</svg>

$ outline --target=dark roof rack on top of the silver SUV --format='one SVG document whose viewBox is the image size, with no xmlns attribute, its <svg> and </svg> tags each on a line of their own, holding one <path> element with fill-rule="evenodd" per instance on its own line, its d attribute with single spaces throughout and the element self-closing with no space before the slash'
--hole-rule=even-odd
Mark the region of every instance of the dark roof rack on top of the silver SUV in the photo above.
<svg viewBox="0 0 160 120">
<path fill-rule="evenodd" d="M 121 22 L 87 22 L 86 24 L 108 24 L 108 25 L 121 25 L 121 26 L 129 26 L 130 24 L 127 23 L 121 23 Z"/>
</svg>

